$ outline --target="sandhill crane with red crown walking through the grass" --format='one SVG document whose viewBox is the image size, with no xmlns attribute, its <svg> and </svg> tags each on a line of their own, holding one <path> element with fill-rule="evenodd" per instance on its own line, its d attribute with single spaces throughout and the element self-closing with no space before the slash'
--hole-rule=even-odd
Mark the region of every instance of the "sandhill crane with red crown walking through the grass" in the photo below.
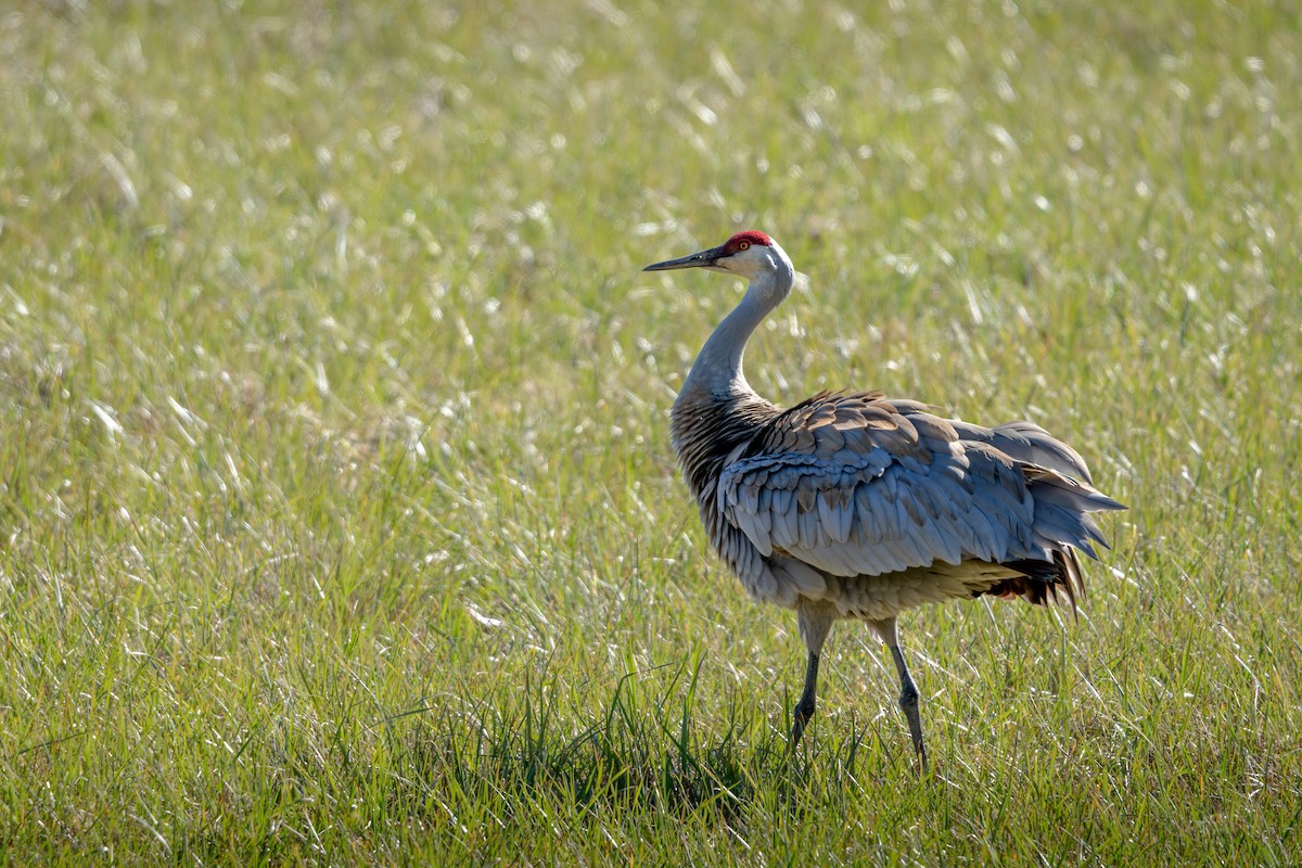
<svg viewBox="0 0 1302 868">
<path fill-rule="evenodd" d="M 820 392 L 780 410 L 742 372 L 746 341 L 796 272 L 762 232 L 644 271 L 750 281 L 673 403 L 678 463 L 715 550 L 758 600 L 796 609 L 809 651 L 792 743 L 814 714 L 819 655 L 840 618 L 891 649 L 923 768 L 918 687 L 896 631 L 906 609 L 982 595 L 1044 605 L 1083 592 L 1077 550 L 1107 545 L 1088 515 L 1125 509 L 1079 454 L 1029 422 L 983 428 L 879 392 Z"/>
</svg>

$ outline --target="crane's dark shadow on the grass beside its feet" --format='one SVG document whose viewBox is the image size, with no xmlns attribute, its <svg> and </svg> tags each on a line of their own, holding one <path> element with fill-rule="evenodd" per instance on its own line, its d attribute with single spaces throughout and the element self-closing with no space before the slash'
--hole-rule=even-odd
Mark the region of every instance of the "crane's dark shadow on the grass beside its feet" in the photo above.
<svg viewBox="0 0 1302 868">
<path fill-rule="evenodd" d="M 868 726 L 842 740 L 786 737 L 745 700 L 694 718 L 700 662 L 622 677 L 586 726 L 557 708 L 555 679 L 529 677 L 514 701 L 430 709 L 402 739 L 413 780 L 509 806 L 562 799 L 583 811 L 648 809 L 725 825 L 763 806 L 798 813 L 862 786 L 855 764 Z M 648 675 L 658 674 L 652 690 Z"/>
</svg>

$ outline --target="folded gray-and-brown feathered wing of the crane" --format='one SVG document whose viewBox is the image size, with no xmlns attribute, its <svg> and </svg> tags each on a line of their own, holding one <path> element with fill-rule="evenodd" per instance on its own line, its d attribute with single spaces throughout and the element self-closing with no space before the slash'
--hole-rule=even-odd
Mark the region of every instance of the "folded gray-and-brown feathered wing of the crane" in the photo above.
<svg viewBox="0 0 1302 868">
<path fill-rule="evenodd" d="M 783 422 L 750 457 L 730 455 L 715 502 L 755 554 L 792 556 L 769 567 L 802 590 L 819 570 L 1052 560 L 1064 545 L 1092 556 L 1104 539 L 1086 513 L 1121 509 L 1072 479 L 1088 480 L 1085 461 L 1031 423 L 980 428 L 854 394 L 820 396 Z"/>
</svg>

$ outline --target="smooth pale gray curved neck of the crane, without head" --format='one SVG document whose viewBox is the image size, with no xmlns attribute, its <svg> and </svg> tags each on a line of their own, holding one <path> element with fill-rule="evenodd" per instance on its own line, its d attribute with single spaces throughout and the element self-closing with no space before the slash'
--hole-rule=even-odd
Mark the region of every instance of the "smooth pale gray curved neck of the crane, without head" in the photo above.
<svg viewBox="0 0 1302 868">
<path fill-rule="evenodd" d="M 710 336 L 697 355 L 697 360 L 682 383 L 680 394 L 707 392 L 711 394 L 738 394 L 754 390 L 742 372 L 746 341 L 755 327 L 792 292 L 796 271 L 790 260 L 776 245 L 775 268 L 766 268 L 751 278 L 741 303 Z"/>
</svg>

